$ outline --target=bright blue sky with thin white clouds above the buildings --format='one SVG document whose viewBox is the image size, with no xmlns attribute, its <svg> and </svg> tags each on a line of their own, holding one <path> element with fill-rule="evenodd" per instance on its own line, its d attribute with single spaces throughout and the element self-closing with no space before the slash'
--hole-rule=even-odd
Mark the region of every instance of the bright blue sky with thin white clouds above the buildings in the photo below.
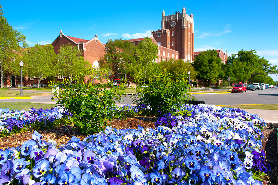
<svg viewBox="0 0 278 185">
<path fill-rule="evenodd" d="M 0 5 L 11 26 L 27 43 L 52 43 L 65 35 L 92 39 L 135 39 L 161 29 L 162 11 L 175 14 L 186 8 L 194 15 L 194 51 L 221 47 L 228 55 L 255 49 L 278 65 L 278 1 L 18 1 Z M 271 75 L 274 80 L 278 76 Z"/>
</svg>

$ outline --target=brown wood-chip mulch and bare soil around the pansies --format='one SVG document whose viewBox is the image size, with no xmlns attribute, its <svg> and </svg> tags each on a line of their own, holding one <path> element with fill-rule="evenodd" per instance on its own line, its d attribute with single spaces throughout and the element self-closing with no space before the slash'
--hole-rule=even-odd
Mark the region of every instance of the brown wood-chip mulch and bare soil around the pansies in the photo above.
<svg viewBox="0 0 278 185">
<path fill-rule="evenodd" d="M 126 120 L 116 119 L 111 121 L 111 127 L 116 129 L 132 128 L 137 129 L 138 125 L 143 128 L 155 128 L 154 122 L 156 121 L 153 117 L 129 117 Z M 57 142 L 57 146 L 66 144 L 72 136 L 83 140 L 86 136 L 81 134 L 78 130 L 73 131 L 72 126 L 60 126 L 50 130 L 39 130 L 38 131 L 43 139 L 48 141 L 52 139 Z M 31 139 L 33 132 L 27 131 L 26 133 L 15 134 L 5 138 L 0 138 L 0 148 L 6 149 L 8 147 L 17 147 L 22 145 L 26 140 Z M 266 128 L 263 130 L 264 138 L 262 139 L 262 149 L 266 153 L 266 161 L 270 163 L 272 170 L 267 172 L 269 179 L 266 179 L 263 184 L 277 185 L 278 175 L 278 153 L 277 153 L 277 129 Z M 277 171 L 276 171 L 277 170 Z"/>
</svg>

